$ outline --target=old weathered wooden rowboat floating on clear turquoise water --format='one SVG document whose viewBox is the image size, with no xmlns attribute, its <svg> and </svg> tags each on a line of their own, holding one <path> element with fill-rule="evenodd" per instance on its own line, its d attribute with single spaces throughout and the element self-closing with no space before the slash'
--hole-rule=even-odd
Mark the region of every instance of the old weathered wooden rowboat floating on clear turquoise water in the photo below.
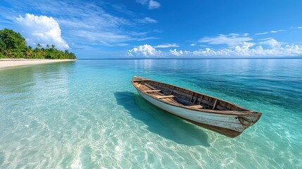
<svg viewBox="0 0 302 169">
<path fill-rule="evenodd" d="M 137 92 L 154 106 L 227 137 L 237 137 L 262 115 L 229 101 L 172 84 L 137 76 L 131 82 Z"/>
</svg>

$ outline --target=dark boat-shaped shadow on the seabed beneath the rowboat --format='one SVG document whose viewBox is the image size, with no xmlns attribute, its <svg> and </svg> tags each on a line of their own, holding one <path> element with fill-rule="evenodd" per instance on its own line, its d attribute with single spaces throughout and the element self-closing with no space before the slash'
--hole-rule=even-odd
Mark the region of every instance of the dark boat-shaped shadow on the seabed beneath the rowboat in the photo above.
<svg viewBox="0 0 302 169">
<path fill-rule="evenodd" d="M 188 123 L 153 106 L 137 93 L 115 92 L 118 105 L 123 106 L 133 118 L 148 125 L 150 132 L 187 146 L 210 146 L 208 135 L 201 127 Z"/>
</svg>

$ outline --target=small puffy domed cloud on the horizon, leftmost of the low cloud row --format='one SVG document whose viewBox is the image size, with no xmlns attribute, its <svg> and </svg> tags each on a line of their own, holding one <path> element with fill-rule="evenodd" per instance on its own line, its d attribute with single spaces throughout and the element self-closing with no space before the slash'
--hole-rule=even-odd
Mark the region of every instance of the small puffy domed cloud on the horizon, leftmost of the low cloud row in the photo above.
<svg viewBox="0 0 302 169">
<path fill-rule="evenodd" d="M 134 47 L 128 51 L 129 56 L 161 56 L 162 52 L 149 44 Z"/>
</svg>

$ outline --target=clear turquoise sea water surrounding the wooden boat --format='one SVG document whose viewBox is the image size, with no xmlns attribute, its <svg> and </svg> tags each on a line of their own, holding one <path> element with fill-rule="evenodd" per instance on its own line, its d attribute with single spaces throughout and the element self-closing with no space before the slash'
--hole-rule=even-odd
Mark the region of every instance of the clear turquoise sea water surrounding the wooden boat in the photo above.
<svg viewBox="0 0 302 169">
<path fill-rule="evenodd" d="M 140 75 L 260 111 L 230 139 L 144 101 Z M 0 168 L 301 168 L 302 60 L 99 60 L 0 71 Z"/>
</svg>

